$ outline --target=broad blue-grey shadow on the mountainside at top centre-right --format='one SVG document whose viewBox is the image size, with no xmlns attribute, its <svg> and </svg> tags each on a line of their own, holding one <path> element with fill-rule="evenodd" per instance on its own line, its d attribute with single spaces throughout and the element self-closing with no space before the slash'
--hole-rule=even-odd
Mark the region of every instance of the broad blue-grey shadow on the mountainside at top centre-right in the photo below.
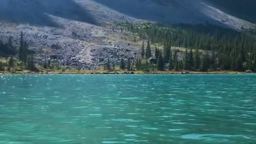
<svg viewBox="0 0 256 144">
<path fill-rule="evenodd" d="M 128 16 L 163 23 L 220 22 L 200 12 L 199 0 L 93 0 Z"/>
</svg>

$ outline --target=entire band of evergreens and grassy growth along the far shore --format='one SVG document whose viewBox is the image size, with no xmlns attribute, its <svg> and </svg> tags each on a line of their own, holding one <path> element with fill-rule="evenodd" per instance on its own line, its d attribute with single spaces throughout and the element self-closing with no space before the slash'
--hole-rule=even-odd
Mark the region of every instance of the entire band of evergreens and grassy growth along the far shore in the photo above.
<svg viewBox="0 0 256 144">
<path fill-rule="evenodd" d="M 97 70 L 80 70 L 45 59 L 34 60 L 34 52 L 20 34 L 20 45 L 12 38 L 0 41 L 0 71 L 36 73 L 237 73 L 256 72 L 256 41 L 246 32 L 210 24 L 164 25 L 123 22 L 121 31 L 131 32 L 134 42 L 142 42 L 140 58 L 122 58 L 115 65 L 110 59 Z M 114 27 L 112 27 L 114 31 Z M 184 48 L 180 50 L 179 48 Z"/>
</svg>

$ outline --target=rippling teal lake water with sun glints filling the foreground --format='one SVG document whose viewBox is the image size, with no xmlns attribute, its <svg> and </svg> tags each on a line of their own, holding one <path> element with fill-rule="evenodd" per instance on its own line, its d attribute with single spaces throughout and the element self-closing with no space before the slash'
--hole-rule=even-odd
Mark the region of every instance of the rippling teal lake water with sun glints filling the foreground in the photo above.
<svg viewBox="0 0 256 144">
<path fill-rule="evenodd" d="M 2 75 L 0 144 L 256 144 L 256 75 Z"/>
</svg>

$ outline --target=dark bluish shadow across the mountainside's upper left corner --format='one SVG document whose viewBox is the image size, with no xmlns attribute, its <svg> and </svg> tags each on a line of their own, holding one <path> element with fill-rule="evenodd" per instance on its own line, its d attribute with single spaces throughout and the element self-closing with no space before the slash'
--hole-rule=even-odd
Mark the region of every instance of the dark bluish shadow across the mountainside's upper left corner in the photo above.
<svg viewBox="0 0 256 144">
<path fill-rule="evenodd" d="M 0 2 L 1 21 L 61 27 L 48 15 L 98 24 L 90 12 L 73 0 L 1 0 Z"/>
</svg>

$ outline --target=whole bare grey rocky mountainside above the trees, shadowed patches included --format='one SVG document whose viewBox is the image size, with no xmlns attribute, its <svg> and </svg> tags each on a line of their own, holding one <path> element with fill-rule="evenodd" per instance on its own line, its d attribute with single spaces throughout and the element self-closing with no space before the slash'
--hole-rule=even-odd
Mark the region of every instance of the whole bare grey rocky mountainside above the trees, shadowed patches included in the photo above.
<svg viewBox="0 0 256 144">
<path fill-rule="evenodd" d="M 253 26 L 230 14 L 205 0 L 1 0 L 0 39 L 12 36 L 18 44 L 23 31 L 38 61 L 50 57 L 64 65 L 96 68 L 107 58 L 119 63 L 121 56 L 139 56 L 140 43 L 112 31 L 114 22 Z"/>
</svg>

